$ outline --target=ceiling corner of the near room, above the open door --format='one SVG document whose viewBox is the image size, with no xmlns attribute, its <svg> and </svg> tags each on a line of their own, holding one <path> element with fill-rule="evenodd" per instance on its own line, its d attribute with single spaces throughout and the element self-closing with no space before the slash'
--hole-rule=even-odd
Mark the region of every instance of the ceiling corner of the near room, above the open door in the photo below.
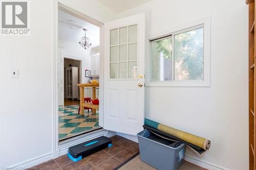
<svg viewBox="0 0 256 170">
<path fill-rule="evenodd" d="M 148 3 L 152 0 L 97 0 L 104 6 L 110 8 L 115 13 L 120 13 L 139 5 Z"/>
</svg>

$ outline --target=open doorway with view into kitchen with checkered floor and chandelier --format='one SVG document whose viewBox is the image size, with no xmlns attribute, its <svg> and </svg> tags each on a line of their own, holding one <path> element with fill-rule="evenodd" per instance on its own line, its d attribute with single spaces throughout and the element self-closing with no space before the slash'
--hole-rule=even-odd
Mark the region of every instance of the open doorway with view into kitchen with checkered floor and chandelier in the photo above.
<svg viewBox="0 0 256 170">
<path fill-rule="evenodd" d="M 87 30 L 85 35 L 85 30 Z M 86 37 L 86 38 L 84 38 Z M 90 45 L 84 48 L 85 41 Z M 58 140 L 98 130 L 99 109 L 83 107 L 78 84 L 100 79 L 100 27 L 68 10 L 58 9 Z M 90 72 L 90 75 L 88 75 Z M 99 98 L 96 88 L 96 98 Z M 84 88 L 84 102 L 92 102 L 93 89 Z"/>
</svg>

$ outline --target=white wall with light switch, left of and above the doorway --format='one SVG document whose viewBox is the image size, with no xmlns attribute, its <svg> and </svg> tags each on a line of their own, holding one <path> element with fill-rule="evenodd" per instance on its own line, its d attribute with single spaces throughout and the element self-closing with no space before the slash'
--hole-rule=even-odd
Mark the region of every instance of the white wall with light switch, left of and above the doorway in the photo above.
<svg viewBox="0 0 256 170">
<path fill-rule="evenodd" d="M 100 21 L 113 18 L 94 1 L 61 2 Z M 30 6 L 30 36 L 0 38 L 0 166 L 52 152 L 53 1 L 33 0 Z M 10 79 L 11 67 L 19 68 L 19 79 Z"/>
</svg>

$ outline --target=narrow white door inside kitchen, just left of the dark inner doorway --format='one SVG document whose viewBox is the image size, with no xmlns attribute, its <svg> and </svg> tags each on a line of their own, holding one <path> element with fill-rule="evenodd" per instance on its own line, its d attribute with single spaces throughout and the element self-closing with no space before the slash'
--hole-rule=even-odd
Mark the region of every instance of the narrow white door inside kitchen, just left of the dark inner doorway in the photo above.
<svg viewBox="0 0 256 170">
<path fill-rule="evenodd" d="M 63 64 L 58 64 L 57 77 L 58 77 L 58 105 L 64 105 Z"/>
</svg>

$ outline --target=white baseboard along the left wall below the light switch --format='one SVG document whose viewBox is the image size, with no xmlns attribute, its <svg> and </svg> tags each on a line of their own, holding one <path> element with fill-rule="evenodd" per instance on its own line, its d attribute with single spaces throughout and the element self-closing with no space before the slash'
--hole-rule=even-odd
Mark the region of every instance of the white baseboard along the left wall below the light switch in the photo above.
<svg viewBox="0 0 256 170">
<path fill-rule="evenodd" d="M 26 160 L 24 162 L 17 163 L 8 168 L 10 168 L 10 169 L 25 169 L 25 168 L 29 168 L 29 167 L 38 165 L 40 163 L 49 161 L 51 159 L 52 159 L 52 153 L 48 153 L 48 154 L 44 154 L 44 155 L 41 155 L 41 156 L 38 156 L 38 157 L 35 157 L 32 159 Z"/>
</svg>

